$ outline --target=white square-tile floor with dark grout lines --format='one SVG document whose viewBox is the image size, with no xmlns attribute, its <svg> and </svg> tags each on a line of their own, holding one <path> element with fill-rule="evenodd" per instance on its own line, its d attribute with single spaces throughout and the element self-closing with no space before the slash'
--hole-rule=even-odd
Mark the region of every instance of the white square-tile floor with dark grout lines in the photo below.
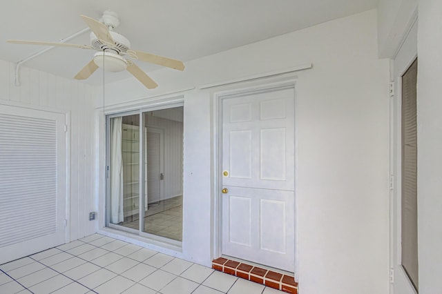
<svg viewBox="0 0 442 294">
<path fill-rule="evenodd" d="M 0 293 L 280 294 L 211 268 L 94 234 L 0 265 Z"/>
</svg>

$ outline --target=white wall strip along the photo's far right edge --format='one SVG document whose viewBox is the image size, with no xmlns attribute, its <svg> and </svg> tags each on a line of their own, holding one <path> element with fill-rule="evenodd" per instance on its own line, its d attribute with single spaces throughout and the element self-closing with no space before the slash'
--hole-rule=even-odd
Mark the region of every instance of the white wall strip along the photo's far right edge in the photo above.
<svg viewBox="0 0 442 294">
<path fill-rule="evenodd" d="M 419 0 L 418 230 L 419 293 L 441 293 L 442 1 Z"/>
</svg>

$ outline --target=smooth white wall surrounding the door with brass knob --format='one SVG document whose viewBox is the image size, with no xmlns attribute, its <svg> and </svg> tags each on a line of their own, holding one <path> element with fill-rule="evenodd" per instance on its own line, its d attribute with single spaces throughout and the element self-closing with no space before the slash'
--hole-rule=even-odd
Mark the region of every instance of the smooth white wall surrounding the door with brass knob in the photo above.
<svg viewBox="0 0 442 294">
<path fill-rule="evenodd" d="M 300 292 L 388 292 L 389 63 L 377 49 L 372 10 L 151 72 L 155 90 L 135 79 L 106 86 L 106 104 L 197 87 L 184 92 L 182 257 L 213 257 L 213 95 L 267 81 L 198 86 L 311 62 L 296 72 Z"/>
</svg>

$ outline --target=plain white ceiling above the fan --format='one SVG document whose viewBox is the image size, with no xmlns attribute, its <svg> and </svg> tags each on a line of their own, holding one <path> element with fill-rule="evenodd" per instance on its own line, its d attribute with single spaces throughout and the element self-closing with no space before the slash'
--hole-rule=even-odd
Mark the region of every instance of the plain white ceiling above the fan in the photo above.
<svg viewBox="0 0 442 294">
<path fill-rule="evenodd" d="M 376 0 L 13 0 L 0 12 L 0 59 L 17 62 L 44 49 L 6 39 L 59 41 L 86 28 L 104 10 L 119 15 L 115 30 L 131 48 L 186 61 L 376 8 Z M 89 44 L 89 33 L 68 43 Z M 72 78 L 95 51 L 54 48 L 23 65 Z M 159 67 L 137 62 L 146 71 Z M 108 75 L 107 81 L 131 77 Z M 95 73 L 87 80 L 98 85 Z"/>
</svg>

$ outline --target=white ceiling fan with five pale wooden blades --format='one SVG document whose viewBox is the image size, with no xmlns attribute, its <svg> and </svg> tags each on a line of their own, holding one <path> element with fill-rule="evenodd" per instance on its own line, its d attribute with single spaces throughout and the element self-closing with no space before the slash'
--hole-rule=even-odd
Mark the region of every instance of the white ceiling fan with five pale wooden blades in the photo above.
<svg viewBox="0 0 442 294">
<path fill-rule="evenodd" d="M 135 78 L 137 78 L 146 88 L 153 89 L 158 85 L 146 75 L 146 73 L 133 63 L 130 59 L 138 59 L 149 63 L 155 63 L 160 66 L 166 66 L 175 70 L 184 70 L 182 61 L 153 55 L 151 53 L 142 52 L 131 49 L 131 43 L 123 35 L 114 32 L 113 29 L 119 25 L 118 16 L 115 12 L 106 10 L 103 13 L 102 19 L 96 21 L 90 17 L 81 15 L 81 19 L 88 25 L 90 30 L 90 43 L 88 45 L 57 43 L 45 41 L 26 41 L 26 40 L 7 40 L 9 43 L 16 44 L 30 44 L 30 45 L 44 45 L 44 46 L 59 46 L 68 48 L 92 49 L 99 52 L 95 53 L 93 59 L 89 61 L 84 68 L 82 68 L 75 79 L 87 79 L 97 70 L 103 68 L 109 72 L 120 72 L 128 70 Z"/>
</svg>

